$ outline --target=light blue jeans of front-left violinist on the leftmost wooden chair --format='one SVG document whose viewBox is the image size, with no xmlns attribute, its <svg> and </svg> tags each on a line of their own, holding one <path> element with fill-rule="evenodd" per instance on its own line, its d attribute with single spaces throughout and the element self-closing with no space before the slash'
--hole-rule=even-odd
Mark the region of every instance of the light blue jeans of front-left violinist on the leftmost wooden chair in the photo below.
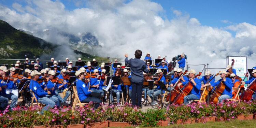
<svg viewBox="0 0 256 128">
<path fill-rule="evenodd" d="M 45 104 L 44 108 L 41 110 L 41 113 L 43 113 L 43 111 L 46 111 L 46 110 L 54 107 L 55 104 L 57 102 L 59 102 L 59 99 L 57 97 L 46 95 L 44 97 L 39 98 L 38 102 Z"/>
</svg>

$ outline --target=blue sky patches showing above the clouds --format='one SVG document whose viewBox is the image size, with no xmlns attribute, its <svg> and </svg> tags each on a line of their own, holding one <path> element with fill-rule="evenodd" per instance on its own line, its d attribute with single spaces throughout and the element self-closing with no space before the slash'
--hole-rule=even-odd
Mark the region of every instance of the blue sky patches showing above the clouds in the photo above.
<svg viewBox="0 0 256 128">
<path fill-rule="evenodd" d="M 67 10 L 76 8 L 87 8 L 86 2 L 75 5 L 77 0 L 60 0 Z M 75 2 L 74 2 L 75 1 Z M 129 2 L 126 0 L 125 2 Z M 256 24 L 256 0 L 151 0 L 159 3 L 165 12 L 161 13 L 162 18 L 169 20 L 175 18 L 173 10 L 179 10 L 183 14 L 197 18 L 202 25 L 211 27 L 225 27 L 231 24 L 249 23 Z M 21 0 L 1 0 L 2 5 L 12 8 L 13 3 L 26 5 Z M 226 23 L 222 22 L 226 20 Z"/>
</svg>

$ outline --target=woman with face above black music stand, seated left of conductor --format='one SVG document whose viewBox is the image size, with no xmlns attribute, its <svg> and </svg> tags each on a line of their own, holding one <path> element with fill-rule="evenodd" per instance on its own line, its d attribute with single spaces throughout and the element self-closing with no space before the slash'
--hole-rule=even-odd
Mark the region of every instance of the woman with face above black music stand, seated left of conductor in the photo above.
<svg viewBox="0 0 256 128">
<path fill-rule="evenodd" d="M 114 72 L 114 76 L 120 76 L 121 75 L 121 71 L 120 70 L 116 70 Z M 116 102 L 117 102 L 117 106 L 119 107 L 120 106 L 120 94 L 122 93 L 122 88 L 121 88 L 121 84 L 119 85 L 112 85 L 112 90 L 110 91 L 110 101 L 112 103 L 114 103 L 114 100 L 113 100 L 113 95 L 112 93 L 116 94 Z"/>
</svg>

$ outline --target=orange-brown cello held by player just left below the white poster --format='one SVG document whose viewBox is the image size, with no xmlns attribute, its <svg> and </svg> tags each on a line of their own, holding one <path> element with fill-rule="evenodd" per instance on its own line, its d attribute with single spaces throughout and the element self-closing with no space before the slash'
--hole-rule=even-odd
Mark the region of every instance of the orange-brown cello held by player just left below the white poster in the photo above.
<svg viewBox="0 0 256 128">
<path fill-rule="evenodd" d="M 218 97 L 221 96 L 225 87 L 226 87 L 226 85 L 223 83 L 223 80 L 221 82 L 219 82 L 217 87 L 214 89 L 214 94 L 211 96 L 210 102 L 213 102 L 214 104 L 216 104 L 218 102 Z"/>
</svg>

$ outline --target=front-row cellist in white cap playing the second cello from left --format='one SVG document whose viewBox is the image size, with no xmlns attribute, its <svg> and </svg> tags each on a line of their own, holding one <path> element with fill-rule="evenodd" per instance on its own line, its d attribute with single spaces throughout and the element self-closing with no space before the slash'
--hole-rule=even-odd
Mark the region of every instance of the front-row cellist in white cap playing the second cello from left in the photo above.
<svg viewBox="0 0 256 128">
<path fill-rule="evenodd" d="M 190 83 L 193 85 L 192 90 L 190 91 L 190 94 L 188 94 L 187 96 L 185 96 L 183 98 L 184 100 L 184 104 L 186 105 L 188 103 L 189 100 L 199 100 L 201 94 L 200 94 L 200 89 L 201 89 L 201 82 L 200 80 L 195 77 L 196 75 L 196 71 L 194 69 L 191 69 L 188 71 L 188 76 L 189 76 L 189 81 Z M 193 79 L 193 77 L 195 77 Z M 180 85 L 185 85 L 189 82 L 188 80 L 182 83 L 177 84 L 178 87 L 180 87 Z"/>
</svg>

